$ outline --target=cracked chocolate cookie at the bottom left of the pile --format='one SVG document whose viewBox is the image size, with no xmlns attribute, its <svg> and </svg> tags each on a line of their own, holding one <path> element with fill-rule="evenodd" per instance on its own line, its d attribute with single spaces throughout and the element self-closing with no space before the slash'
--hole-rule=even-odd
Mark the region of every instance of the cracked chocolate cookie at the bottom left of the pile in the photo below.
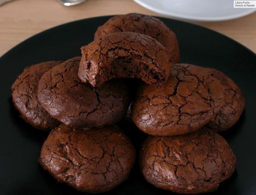
<svg viewBox="0 0 256 195">
<path fill-rule="evenodd" d="M 125 179 L 134 164 L 135 149 L 118 127 L 74 129 L 64 124 L 44 142 L 39 163 L 58 181 L 79 191 L 109 191 Z"/>
</svg>

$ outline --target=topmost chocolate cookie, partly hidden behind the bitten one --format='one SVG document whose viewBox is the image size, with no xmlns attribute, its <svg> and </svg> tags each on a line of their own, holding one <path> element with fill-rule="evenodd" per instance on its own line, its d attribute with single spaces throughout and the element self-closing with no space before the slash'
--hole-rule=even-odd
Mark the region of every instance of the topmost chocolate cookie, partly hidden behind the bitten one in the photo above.
<svg viewBox="0 0 256 195">
<path fill-rule="evenodd" d="M 113 32 L 137 32 L 148 35 L 165 47 L 173 64 L 180 61 L 180 50 L 176 35 L 159 19 L 136 13 L 115 16 L 98 27 L 94 39 L 102 38 Z"/>
</svg>

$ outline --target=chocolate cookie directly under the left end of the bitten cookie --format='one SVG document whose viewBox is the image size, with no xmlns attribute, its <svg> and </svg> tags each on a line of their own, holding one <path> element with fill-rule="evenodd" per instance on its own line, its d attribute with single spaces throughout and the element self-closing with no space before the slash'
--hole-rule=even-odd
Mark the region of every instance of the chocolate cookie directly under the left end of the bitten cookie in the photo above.
<svg viewBox="0 0 256 195">
<path fill-rule="evenodd" d="M 80 57 L 69 59 L 46 72 L 38 85 L 38 99 L 55 119 L 69 126 L 104 126 L 126 114 L 130 93 L 123 80 L 93 88 L 78 78 Z"/>
</svg>

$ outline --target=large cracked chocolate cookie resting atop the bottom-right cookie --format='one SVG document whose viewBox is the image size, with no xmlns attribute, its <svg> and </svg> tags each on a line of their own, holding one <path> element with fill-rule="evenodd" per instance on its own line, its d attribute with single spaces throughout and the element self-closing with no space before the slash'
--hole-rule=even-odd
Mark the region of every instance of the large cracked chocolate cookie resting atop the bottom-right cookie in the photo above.
<svg viewBox="0 0 256 195">
<path fill-rule="evenodd" d="M 150 135 L 169 136 L 198 130 L 223 105 L 221 82 L 207 68 L 176 64 L 163 85 L 143 84 L 132 106 L 132 120 Z"/>
</svg>

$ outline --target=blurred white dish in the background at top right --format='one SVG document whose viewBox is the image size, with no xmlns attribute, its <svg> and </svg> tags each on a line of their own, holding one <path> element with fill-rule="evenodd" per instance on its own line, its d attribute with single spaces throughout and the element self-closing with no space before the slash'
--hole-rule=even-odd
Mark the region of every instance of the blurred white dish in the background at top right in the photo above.
<svg viewBox="0 0 256 195">
<path fill-rule="evenodd" d="M 223 21 L 240 18 L 256 8 L 234 8 L 233 0 L 134 0 L 141 6 L 176 18 L 195 21 Z"/>
</svg>

